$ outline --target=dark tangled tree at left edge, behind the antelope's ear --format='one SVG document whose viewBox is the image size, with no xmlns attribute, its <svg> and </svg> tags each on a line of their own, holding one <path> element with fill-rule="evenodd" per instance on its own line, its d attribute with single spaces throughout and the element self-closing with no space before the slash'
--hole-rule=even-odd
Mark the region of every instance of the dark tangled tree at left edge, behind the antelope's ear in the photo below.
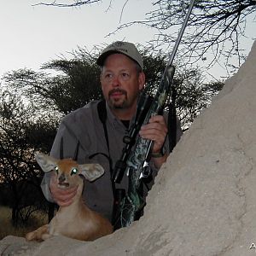
<svg viewBox="0 0 256 256">
<path fill-rule="evenodd" d="M 35 108 L 17 94 L 0 92 L 0 183 L 8 190 L 12 221 L 17 225 L 46 204 L 39 187 L 43 173 L 34 154 L 49 151 L 56 124 L 47 116 L 36 116 Z"/>
</svg>

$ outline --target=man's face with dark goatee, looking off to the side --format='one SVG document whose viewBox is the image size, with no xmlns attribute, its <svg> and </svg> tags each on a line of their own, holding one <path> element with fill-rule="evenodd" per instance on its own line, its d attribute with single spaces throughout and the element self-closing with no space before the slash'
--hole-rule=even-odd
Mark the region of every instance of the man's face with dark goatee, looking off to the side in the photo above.
<svg viewBox="0 0 256 256">
<path fill-rule="evenodd" d="M 144 73 L 125 55 L 109 55 L 101 74 L 102 92 L 112 109 L 136 109 L 137 96 L 145 83 Z"/>
</svg>

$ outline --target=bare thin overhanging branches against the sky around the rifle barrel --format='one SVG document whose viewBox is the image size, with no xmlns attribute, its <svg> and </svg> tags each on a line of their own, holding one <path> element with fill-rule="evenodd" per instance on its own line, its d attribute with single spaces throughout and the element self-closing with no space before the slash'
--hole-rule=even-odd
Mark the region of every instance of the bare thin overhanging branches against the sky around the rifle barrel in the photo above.
<svg viewBox="0 0 256 256">
<path fill-rule="evenodd" d="M 124 6 L 128 1 L 125 1 Z M 60 2 L 57 4 L 54 1 L 49 5 L 73 7 L 90 1 Z M 109 0 L 109 4 L 112 2 Z M 113 33 L 134 24 L 144 25 L 156 31 L 151 44 L 172 51 L 188 7 L 189 0 L 152 1 L 152 11 L 146 14 L 145 19 L 131 20 L 118 26 Z M 255 9 L 255 0 L 196 0 L 177 54 L 182 59 L 187 56 L 189 62 L 204 61 L 208 67 L 224 57 L 224 66 L 228 71 L 236 71 L 245 58 L 245 45 L 242 45 L 241 40 L 248 36 L 247 20 L 255 14 Z M 232 59 L 237 60 L 235 65 L 231 63 Z"/>
</svg>

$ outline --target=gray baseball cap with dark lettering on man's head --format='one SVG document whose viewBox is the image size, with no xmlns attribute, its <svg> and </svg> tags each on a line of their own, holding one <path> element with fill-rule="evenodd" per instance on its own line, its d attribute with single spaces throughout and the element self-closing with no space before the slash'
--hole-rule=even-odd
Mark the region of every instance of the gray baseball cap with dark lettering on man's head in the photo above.
<svg viewBox="0 0 256 256">
<path fill-rule="evenodd" d="M 136 61 L 137 64 L 143 69 L 143 57 L 138 52 L 135 45 L 128 42 L 122 42 L 122 41 L 117 41 L 117 42 L 114 42 L 113 44 L 109 44 L 105 49 L 103 49 L 96 63 L 99 66 L 103 66 L 104 61 L 106 60 L 108 55 L 112 55 L 114 53 L 120 53 L 128 56 L 133 61 Z"/>
</svg>

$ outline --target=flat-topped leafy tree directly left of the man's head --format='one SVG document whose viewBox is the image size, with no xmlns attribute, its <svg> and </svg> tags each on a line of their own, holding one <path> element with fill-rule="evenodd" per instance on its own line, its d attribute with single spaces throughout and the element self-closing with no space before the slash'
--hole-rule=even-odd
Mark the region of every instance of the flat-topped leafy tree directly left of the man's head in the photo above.
<svg viewBox="0 0 256 256">
<path fill-rule="evenodd" d="M 70 60 L 49 61 L 42 65 L 42 70 L 36 73 L 20 69 L 6 73 L 3 79 L 9 87 L 29 98 L 39 112 L 55 113 L 59 118 L 91 100 L 102 98 L 96 54 L 79 48 L 73 51 Z"/>
</svg>

